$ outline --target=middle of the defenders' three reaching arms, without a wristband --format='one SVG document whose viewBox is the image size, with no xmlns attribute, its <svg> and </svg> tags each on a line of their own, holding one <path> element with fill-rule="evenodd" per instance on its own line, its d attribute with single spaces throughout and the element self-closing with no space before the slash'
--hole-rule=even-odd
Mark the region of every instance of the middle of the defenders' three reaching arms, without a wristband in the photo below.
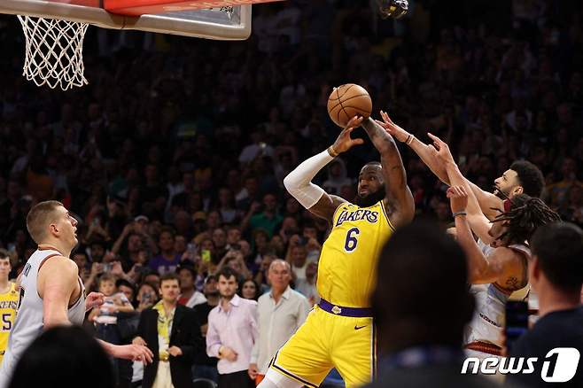
<svg viewBox="0 0 583 388">
<path fill-rule="evenodd" d="M 493 237 L 488 233 L 490 230 L 490 221 L 486 218 L 486 215 L 482 212 L 478 204 L 478 199 L 474 195 L 473 190 L 470 187 L 470 182 L 465 179 L 462 172 L 457 167 L 454 161 L 454 157 L 449 151 L 449 146 L 438 136 L 433 136 L 428 134 L 433 140 L 433 145 L 431 148 L 437 152 L 441 163 L 446 167 L 447 175 L 449 176 L 450 182 L 453 186 L 461 186 L 467 192 L 468 195 L 468 222 L 470 223 L 470 228 L 473 232 L 485 243 L 490 244 L 493 241 Z"/>
</svg>

